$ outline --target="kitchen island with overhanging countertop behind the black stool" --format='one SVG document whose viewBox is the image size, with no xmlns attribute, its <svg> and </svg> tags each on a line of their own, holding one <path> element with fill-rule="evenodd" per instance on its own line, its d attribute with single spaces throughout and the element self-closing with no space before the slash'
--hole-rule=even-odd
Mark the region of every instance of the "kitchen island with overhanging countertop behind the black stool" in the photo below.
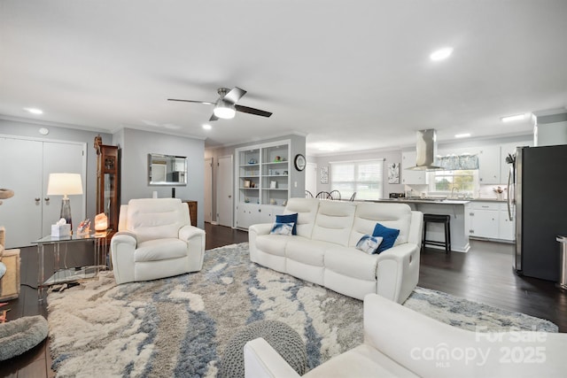
<svg viewBox="0 0 567 378">
<path fill-rule="evenodd" d="M 451 217 L 451 251 L 468 252 L 470 250 L 469 233 L 466 228 L 465 209 L 470 200 L 436 198 L 390 198 L 372 202 L 397 202 L 409 204 L 412 210 L 428 214 L 444 214 Z M 445 228 L 441 223 L 427 225 L 427 239 L 442 242 L 445 240 Z M 428 248 L 430 245 L 428 244 Z M 431 248 L 443 249 L 431 245 Z"/>
</svg>

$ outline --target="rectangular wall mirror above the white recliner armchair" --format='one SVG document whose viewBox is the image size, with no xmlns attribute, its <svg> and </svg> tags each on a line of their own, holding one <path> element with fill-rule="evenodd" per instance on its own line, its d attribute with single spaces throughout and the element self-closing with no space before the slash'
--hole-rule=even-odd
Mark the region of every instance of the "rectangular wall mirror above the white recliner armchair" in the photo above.
<svg viewBox="0 0 567 378">
<path fill-rule="evenodd" d="M 150 185 L 187 185 L 187 158 L 148 154 L 148 178 Z"/>
</svg>

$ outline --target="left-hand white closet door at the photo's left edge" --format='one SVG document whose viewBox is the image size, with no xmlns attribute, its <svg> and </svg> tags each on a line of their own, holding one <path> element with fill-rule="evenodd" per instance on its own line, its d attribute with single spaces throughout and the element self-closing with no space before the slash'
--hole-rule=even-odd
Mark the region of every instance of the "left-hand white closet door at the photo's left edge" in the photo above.
<svg viewBox="0 0 567 378">
<path fill-rule="evenodd" d="M 14 191 L 0 205 L 7 249 L 31 245 L 42 235 L 42 159 L 42 142 L 0 139 L 0 187 Z"/>
</svg>

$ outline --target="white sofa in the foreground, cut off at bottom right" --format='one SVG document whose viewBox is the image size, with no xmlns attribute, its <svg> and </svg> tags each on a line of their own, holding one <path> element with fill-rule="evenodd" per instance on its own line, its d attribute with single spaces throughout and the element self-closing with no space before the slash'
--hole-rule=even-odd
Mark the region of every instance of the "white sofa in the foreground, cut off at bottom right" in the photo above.
<svg viewBox="0 0 567 378">
<path fill-rule="evenodd" d="M 376 294 L 364 298 L 364 343 L 305 377 L 564 377 L 566 334 L 474 332 Z M 245 344 L 245 377 L 299 377 L 262 338 Z"/>
</svg>

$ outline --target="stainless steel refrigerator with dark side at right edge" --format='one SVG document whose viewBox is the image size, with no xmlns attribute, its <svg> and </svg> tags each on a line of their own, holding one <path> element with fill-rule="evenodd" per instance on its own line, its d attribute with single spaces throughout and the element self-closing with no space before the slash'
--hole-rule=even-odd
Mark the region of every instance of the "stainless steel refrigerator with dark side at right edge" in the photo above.
<svg viewBox="0 0 567 378">
<path fill-rule="evenodd" d="M 509 211 L 516 211 L 517 274 L 556 282 L 567 235 L 567 145 L 518 147 L 507 159 Z"/>
</svg>

